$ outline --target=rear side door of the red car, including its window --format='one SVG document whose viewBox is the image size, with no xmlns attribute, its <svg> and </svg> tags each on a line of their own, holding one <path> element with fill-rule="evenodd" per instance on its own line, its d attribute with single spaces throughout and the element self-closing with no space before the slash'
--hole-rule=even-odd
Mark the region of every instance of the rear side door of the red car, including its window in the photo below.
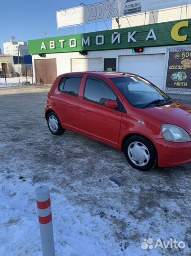
<svg viewBox="0 0 191 256">
<path fill-rule="evenodd" d="M 59 111 L 63 127 L 77 132 L 79 131 L 78 94 L 82 77 L 81 74 L 64 76 L 54 95 L 54 102 Z"/>
</svg>

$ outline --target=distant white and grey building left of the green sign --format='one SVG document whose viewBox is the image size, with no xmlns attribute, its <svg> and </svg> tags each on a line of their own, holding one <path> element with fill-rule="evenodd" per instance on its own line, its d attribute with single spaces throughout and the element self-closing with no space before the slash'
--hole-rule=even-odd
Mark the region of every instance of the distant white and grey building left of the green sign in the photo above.
<svg viewBox="0 0 191 256">
<path fill-rule="evenodd" d="M 5 55 L 28 55 L 27 42 L 15 42 L 10 41 L 3 43 L 3 49 Z"/>
</svg>

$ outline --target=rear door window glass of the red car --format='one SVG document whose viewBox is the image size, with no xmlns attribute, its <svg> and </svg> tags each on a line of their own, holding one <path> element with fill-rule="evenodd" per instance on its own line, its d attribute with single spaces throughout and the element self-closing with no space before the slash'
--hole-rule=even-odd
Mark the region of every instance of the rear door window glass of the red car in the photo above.
<svg viewBox="0 0 191 256">
<path fill-rule="evenodd" d="M 82 76 L 64 77 L 59 84 L 59 90 L 68 95 L 78 97 L 81 80 Z"/>
</svg>

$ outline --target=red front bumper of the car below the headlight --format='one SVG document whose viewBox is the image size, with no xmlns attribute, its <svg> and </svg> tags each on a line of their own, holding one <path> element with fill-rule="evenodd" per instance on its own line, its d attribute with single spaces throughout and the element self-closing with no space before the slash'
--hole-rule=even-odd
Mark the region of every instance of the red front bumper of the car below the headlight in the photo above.
<svg viewBox="0 0 191 256">
<path fill-rule="evenodd" d="M 164 139 L 153 141 L 157 154 L 158 166 L 178 166 L 191 163 L 191 142 L 169 142 Z"/>
</svg>

